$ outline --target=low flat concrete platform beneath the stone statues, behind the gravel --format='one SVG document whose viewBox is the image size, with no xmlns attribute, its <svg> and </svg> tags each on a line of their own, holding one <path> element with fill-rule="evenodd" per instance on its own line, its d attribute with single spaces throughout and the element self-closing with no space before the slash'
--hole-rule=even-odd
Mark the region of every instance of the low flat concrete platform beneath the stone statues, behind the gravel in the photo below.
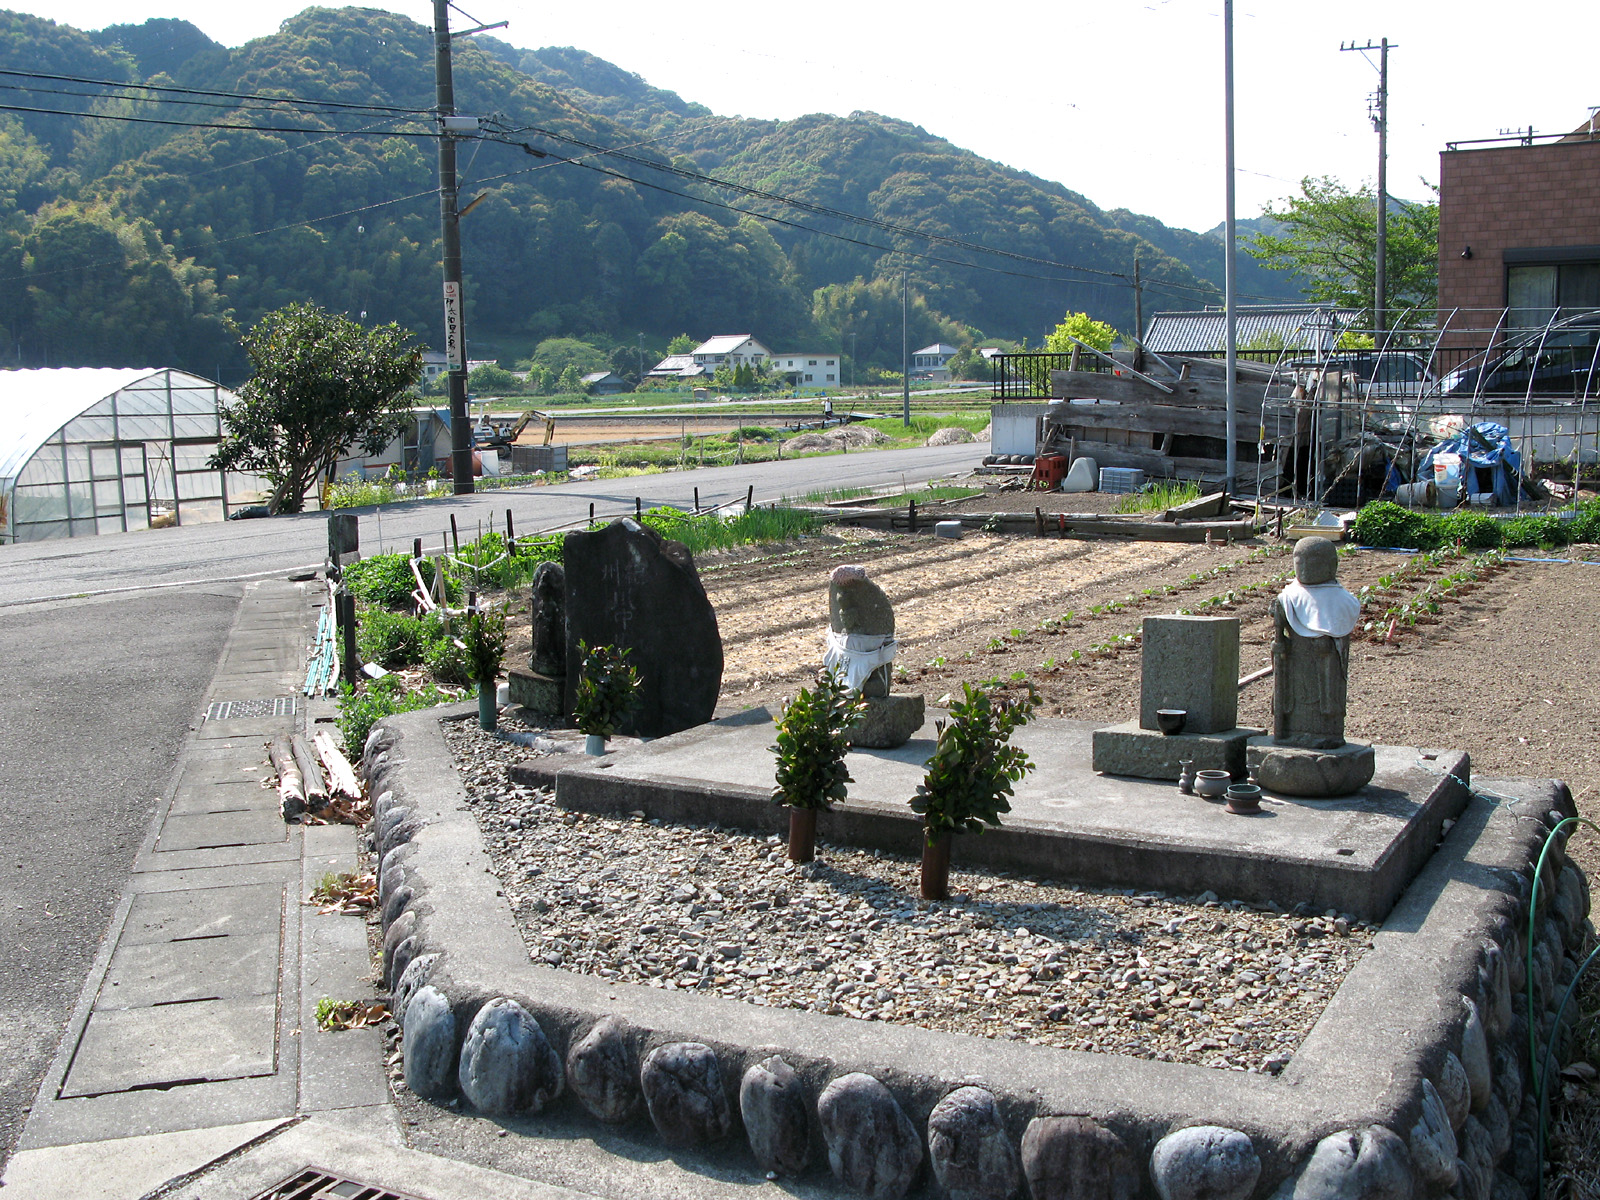
<svg viewBox="0 0 1600 1200">
<path fill-rule="evenodd" d="M 850 800 L 824 813 L 818 837 L 917 854 L 909 800 L 933 750 L 933 718 L 894 750 L 850 755 Z M 1016 738 L 1037 770 L 1019 784 L 1002 829 L 957 838 L 955 862 L 1091 886 L 1157 888 L 1381 920 L 1434 853 L 1446 819 L 1467 802 L 1459 750 L 1378 747 L 1378 773 L 1338 800 L 1266 795 L 1262 811 L 1232 816 L 1219 802 L 1171 784 L 1096 774 L 1098 722 L 1035 720 Z M 717 822 L 776 834 L 773 725 L 765 710 L 566 765 L 512 766 L 514 781 L 549 784 L 566 808 L 667 821 Z"/>
</svg>

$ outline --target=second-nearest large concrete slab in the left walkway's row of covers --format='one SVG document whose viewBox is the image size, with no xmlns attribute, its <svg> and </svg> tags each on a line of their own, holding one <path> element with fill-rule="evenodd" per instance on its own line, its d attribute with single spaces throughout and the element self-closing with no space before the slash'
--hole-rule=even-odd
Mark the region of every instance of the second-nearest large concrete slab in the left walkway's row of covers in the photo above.
<svg viewBox="0 0 1600 1200">
<path fill-rule="evenodd" d="M 277 995 L 277 930 L 187 941 L 120 944 L 96 1010 Z"/>
</svg>

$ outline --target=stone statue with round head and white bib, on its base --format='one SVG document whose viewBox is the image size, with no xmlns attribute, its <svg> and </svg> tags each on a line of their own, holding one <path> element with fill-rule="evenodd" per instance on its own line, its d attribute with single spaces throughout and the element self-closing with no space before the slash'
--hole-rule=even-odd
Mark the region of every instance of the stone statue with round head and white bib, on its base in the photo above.
<svg viewBox="0 0 1600 1200">
<path fill-rule="evenodd" d="M 1269 792 L 1349 795 L 1373 778 L 1373 747 L 1344 739 L 1350 634 L 1362 602 L 1338 574 L 1333 542 L 1301 538 L 1294 582 L 1272 602 L 1272 736 L 1253 738 L 1245 754 Z"/>
</svg>

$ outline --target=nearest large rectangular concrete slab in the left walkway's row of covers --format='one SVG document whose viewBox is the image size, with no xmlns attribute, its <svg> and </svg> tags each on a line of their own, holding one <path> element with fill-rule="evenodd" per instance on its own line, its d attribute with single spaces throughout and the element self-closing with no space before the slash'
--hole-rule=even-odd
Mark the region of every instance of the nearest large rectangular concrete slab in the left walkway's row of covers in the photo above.
<svg viewBox="0 0 1600 1200">
<path fill-rule="evenodd" d="M 61 1096 L 272 1075 L 277 1011 L 275 994 L 94 1011 Z"/>
</svg>

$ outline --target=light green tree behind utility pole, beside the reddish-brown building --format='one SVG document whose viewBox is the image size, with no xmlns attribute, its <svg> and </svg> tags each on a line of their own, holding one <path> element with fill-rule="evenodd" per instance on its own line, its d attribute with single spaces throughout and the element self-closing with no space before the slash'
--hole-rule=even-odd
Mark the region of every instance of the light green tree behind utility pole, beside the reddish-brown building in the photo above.
<svg viewBox="0 0 1600 1200">
<path fill-rule="evenodd" d="M 1402 203 L 1390 197 L 1389 203 L 1384 307 L 1390 314 L 1432 309 L 1438 301 L 1438 202 Z M 1250 254 L 1272 270 L 1296 272 L 1314 301 L 1371 314 L 1378 277 L 1378 205 L 1371 187 L 1352 192 L 1338 179 L 1307 176 L 1299 195 L 1261 214 L 1283 229 L 1246 240 Z"/>
</svg>

